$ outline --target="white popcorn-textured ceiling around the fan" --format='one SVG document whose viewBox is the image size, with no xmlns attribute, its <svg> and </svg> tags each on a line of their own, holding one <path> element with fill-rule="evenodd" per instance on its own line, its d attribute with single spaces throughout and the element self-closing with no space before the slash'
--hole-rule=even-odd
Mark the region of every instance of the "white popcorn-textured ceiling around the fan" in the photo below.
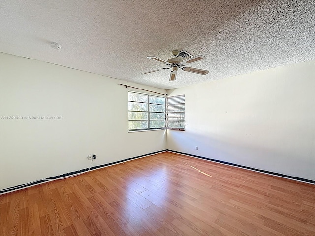
<svg viewBox="0 0 315 236">
<path fill-rule="evenodd" d="M 315 1 L 5 1 L 0 51 L 162 89 L 315 59 Z M 50 42 L 62 45 L 60 51 Z M 172 50 L 208 59 L 170 70 Z"/>
</svg>

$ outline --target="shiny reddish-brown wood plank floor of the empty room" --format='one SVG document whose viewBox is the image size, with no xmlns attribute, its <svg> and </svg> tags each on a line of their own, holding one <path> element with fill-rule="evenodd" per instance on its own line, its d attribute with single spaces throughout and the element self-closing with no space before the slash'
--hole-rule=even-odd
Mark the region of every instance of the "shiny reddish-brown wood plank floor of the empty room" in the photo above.
<svg viewBox="0 0 315 236">
<path fill-rule="evenodd" d="M 0 199 L 1 236 L 315 236 L 315 185 L 170 152 Z"/>
</svg>

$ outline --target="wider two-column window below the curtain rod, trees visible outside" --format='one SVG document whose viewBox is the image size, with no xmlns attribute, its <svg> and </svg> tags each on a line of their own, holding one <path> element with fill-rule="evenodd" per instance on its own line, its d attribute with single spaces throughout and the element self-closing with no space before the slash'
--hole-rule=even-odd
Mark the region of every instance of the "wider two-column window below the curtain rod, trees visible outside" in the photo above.
<svg viewBox="0 0 315 236">
<path fill-rule="evenodd" d="M 165 128 L 165 98 L 137 92 L 128 94 L 129 131 Z"/>
</svg>

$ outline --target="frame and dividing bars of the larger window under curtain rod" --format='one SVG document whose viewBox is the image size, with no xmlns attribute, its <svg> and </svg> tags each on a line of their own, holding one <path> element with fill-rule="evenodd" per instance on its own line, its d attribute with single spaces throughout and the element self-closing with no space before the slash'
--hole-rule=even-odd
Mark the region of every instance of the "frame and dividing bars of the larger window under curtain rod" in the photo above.
<svg viewBox="0 0 315 236">
<path fill-rule="evenodd" d="M 129 93 L 137 93 L 137 94 L 145 95 L 145 96 L 147 96 L 147 101 L 148 101 L 148 102 L 130 101 L 130 100 L 129 100 Z M 150 103 L 150 97 L 163 98 L 163 99 L 164 99 L 164 104 Z M 137 103 L 144 103 L 144 104 L 147 104 L 147 110 L 146 110 L 146 111 L 134 111 L 134 110 L 129 110 L 129 102 L 137 102 Z M 150 104 L 152 104 L 152 105 L 164 106 L 164 112 L 150 112 Z M 129 119 L 129 112 L 145 112 L 145 113 L 147 113 L 147 119 L 143 119 L 143 120 Z M 164 119 L 150 119 L 150 113 L 164 114 Z M 158 121 L 163 121 L 163 122 L 164 122 L 163 127 L 160 127 L 160 128 L 150 128 L 150 121 L 156 121 L 156 120 L 158 120 Z M 164 96 L 158 96 L 158 95 L 153 95 L 153 94 L 146 94 L 146 93 L 141 93 L 141 92 L 135 92 L 135 91 L 128 91 L 128 130 L 129 130 L 129 132 L 166 129 L 165 120 L 166 120 L 166 97 L 164 97 Z M 147 127 L 148 127 L 148 128 L 145 128 L 145 129 L 129 129 L 129 121 L 147 121 L 147 123 L 148 123 L 148 126 L 147 126 Z"/>
</svg>

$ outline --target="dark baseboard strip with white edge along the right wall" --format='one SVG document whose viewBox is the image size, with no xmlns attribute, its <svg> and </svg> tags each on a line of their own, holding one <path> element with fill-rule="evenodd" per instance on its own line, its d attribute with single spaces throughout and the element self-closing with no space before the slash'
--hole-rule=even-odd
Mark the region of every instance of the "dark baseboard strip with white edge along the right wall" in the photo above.
<svg viewBox="0 0 315 236">
<path fill-rule="evenodd" d="M 252 168 L 252 167 L 248 167 L 248 166 L 242 166 L 242 165 L 238 165 L 238 164 L 235 164 L 235 163 L 230 163 L 230 162 L 226 162 L 226 161 L 220 161 L 220 160 L 216 160 L 216 159 L 211 159 L 211 158 L 207 158 L 207 157 L 203 157 L 203 156 L 192 155 L 192 154 L 179 152 L 179 151 L 173 151 L 173 150 L 166 150 L 166 151 L 174 152 L 174 153 L 178 153 L 178 154 L 182 154 L 182 155 L 186 155 L 186 156 L 196 157 L 196 158 L 200 158 L 200 159 L 204 159 L 204 160 L 208 160 L 208 161 L 218 162 L 218 163 L 229 165 L 229 166 L 240 167 L 240 168 L 243 168 L 243 169 L 256 171 L 256 172 L 260 172 L 260 173 L 264 173 L 264 174 L 268 174 L 268 175 L 273 175 L 273 176 L 288 178 L 288 179 L 292 179 L 292 180 L 296 180 L 296 181 L 300 181 L 300 182 L 315 184 L 315 181 L 314 180 L 310 180 L 310 179 L 294 177 L 294 176 L 288 176 L 288 175 L 284 175 L 284 174 L 280 174 L 280 173 L 260 170 L 260 169 L 256 169 L 256 168 Z"/>
</svg>

